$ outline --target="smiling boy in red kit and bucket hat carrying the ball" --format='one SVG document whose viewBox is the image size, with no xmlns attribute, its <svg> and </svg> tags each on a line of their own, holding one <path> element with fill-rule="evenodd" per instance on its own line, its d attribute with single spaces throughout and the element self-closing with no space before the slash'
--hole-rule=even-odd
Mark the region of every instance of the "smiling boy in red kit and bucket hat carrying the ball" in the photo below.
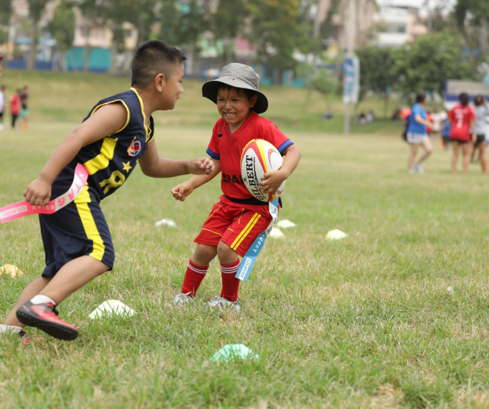
<svg viewBox="0 0 489 409">
<path fill-rule="evenodd" d="M 275 193 L 282 182 L 296 168 L 300 152 L 273 122 L 258 114 L 265 112 L 268 101 L 258 90 L 260 77 L 253 68 L 232 63 L 222 68 L 219 78 L 202 86 L 202 96 L 217 104 L 221 119 L 212 131 L 207 153 L 214 162 L 214 170 L 207 175 L 196 175 L 172 189 L 177 200 L 185 200 L 192 191 L 222 172 L 222 196 L 204 222 L 197 248 L 189 260 L 185 278 L 171 304 L 181 306 L 195 296 L 205 277 L 210 261 L 217 255 L 221 263 L 221 295 L 209 301 L 217 308 L 240 309 L 235 278 L 243 257 L 255 238 L 269 226 L 272 217 L 268 203 L 254 198 L 241 178 L 241 154 L 252 139 L 265 139 L 284 156 L 280 170 L 270 171 L 260 182 L 265 193 Z"/>
</svg>

